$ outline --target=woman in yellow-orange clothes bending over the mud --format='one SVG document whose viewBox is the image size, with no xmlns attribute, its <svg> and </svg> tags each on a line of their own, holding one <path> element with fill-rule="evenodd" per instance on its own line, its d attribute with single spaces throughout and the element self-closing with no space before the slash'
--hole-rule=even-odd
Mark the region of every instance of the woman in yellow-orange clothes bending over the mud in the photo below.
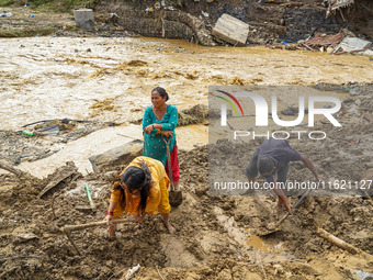
<svg viewBox="0 0 373 280">
<path fill-rule="evenodd" d="M 115 221 L 110 221 L 120 217 L 123 212 L 135 216 L 137 223 L 142 223 L 147 214 L 160 212 L 165 226 L 172 234 L 174 228 L 169 222 L 171 206 L 167 190 L 169 183 L 162 163 L 149 157 L 136 157 L 114 181 L 104 219 L 110 225 L 109 236 L 115 236 L 116 231 Z"/>
</svg>

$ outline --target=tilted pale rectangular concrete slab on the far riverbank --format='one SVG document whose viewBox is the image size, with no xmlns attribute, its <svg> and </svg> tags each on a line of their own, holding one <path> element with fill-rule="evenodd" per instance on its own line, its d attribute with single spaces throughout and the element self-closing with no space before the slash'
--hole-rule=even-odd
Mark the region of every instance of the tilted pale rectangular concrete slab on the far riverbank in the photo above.
<svg viewBox="0 0 373 280">
<path fill-rule="evenodd" d="M 217 20 L 212 34 L 233 45 L 245 46 L 249 34 L 249 24 L 224 13 Z"/>
</svg>

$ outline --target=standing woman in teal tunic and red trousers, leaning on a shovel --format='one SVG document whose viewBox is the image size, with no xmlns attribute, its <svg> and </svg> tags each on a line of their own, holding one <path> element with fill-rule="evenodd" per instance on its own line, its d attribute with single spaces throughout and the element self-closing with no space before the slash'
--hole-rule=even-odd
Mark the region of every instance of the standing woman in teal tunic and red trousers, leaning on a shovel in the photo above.
<svg viewBox="0 0 373 280">
<path fill-rule="evenodd" d="M 180 169 L 177 150 L 177 127 L 179 114 L 174 105 L 167 104 L 169 97 L 166 90 L 157 87 L 151 91 L 151 107 L 145 110 L 143 119 L 144 150 L 143 156 L 158 159 L 168 170 L 167 148 L 162 139 L 170 139 L 172 181 L 176 190 L 179 190 Z"/>
</svg>

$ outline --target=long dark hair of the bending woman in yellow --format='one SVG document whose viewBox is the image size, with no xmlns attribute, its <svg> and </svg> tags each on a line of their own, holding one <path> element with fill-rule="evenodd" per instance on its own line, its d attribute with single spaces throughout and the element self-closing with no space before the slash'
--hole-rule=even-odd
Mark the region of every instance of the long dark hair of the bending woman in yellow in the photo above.
<svg viewBox="0 0 373 280">
<path fill-rule="evenodd" d="M 125 183 L 129 190 L 140 189 L 140 203 L 137 210 L 144 212 L 152 186 L 150 170 L 147 165 L 143 161 L 140 167 L 128 167 L 122 175 L 121 182 Z"/>
</svg>

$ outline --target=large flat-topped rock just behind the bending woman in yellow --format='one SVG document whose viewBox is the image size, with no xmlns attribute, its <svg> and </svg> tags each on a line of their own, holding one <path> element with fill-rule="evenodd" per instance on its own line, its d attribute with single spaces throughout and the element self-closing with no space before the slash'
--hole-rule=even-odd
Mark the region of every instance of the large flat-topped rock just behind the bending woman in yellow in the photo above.
<svg viewBox="0 0 373 280">
<path fill-rule="evenodd" d="M 135 157 L 143 154 L 143 141 L 134 139 L 123 146 L 112 148 L 101 155 L 91 156 L 94 172 L 100 172 L 118 165 L 129 164 Z"/>
</svg>

